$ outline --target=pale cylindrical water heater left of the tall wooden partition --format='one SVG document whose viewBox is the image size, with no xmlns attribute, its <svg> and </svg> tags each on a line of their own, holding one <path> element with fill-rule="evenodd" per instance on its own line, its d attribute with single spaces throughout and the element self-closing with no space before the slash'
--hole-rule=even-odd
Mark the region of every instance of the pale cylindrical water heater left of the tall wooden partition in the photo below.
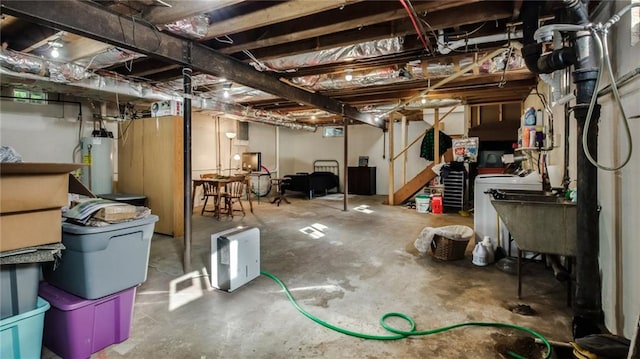
<svg viewBox="0 0 640 359">
<path fill-rule="evenodd" d="M 96 195 L 113 193 L 113 138 L 83 137 L 82 183 Z"/>
</svg>

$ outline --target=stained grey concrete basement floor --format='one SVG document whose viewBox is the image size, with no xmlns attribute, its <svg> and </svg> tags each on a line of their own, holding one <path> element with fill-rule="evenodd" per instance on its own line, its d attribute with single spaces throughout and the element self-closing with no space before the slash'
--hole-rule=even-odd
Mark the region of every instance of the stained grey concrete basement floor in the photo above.
<svg viewBox="0 0 640 359">
<path fill-rule="evenodd" d="M 154 235 L 147 281 L 137 289 L 131 336 L 94 358 L 499 358 L 520 332 L 468 327 L 397 341 L 354 338 L 301 315 L 271 279 L 261 276 L 233 293 L 208 284 L 210 235 L 238 225 L 261 231 L 261 268 L 280 277 L 302 307 L 347 329 L 388 334 L 380 316 L 399 311 L 418 330 L 467 321 L 526 326 L 550 340 L 571 339 L 566 287 L 540 263 L 525 267 L 523 298 L 516 276 L 464 260 L 420 255 L 413 242 L 425 226 L 463 224 L 473 217 L 431 215 L 382 205 L 382 196 L 342 200 L 290 197 L 279 207 L 262 199 L 233 220 L 193 216 L 192 272 L 182 270 L 182 239 Z M 369 206 L 371 213 L 353 210 Z M 326 229 L 312 238 L 300 229 Z M 316 236 L 317 237 L 317 236 Z M 523 316 L 509 308 L 531 306 Z M 406 328 L 405 323 L 389 319 Z M 540 352 L 540 350 L 538 350 Z M 531 353 L 520 353 L 531 355 Z M 46 348 L 43 357 L 57 358 Z M 542 357 L 539 353 L 531 357 Z"/>
</svg>

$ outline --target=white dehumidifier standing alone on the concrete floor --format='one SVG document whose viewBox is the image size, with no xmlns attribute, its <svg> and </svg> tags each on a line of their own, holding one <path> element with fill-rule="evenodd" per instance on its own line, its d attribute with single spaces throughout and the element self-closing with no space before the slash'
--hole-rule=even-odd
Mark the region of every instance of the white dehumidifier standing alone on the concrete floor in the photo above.
<svg viewBox="0 0 640 359">
<path fill-rule="evenodd" d="M 260 230 L 238 227 L 211 235 L 211 286 L 232 292 L 260 276 Z"/>
</svg>

